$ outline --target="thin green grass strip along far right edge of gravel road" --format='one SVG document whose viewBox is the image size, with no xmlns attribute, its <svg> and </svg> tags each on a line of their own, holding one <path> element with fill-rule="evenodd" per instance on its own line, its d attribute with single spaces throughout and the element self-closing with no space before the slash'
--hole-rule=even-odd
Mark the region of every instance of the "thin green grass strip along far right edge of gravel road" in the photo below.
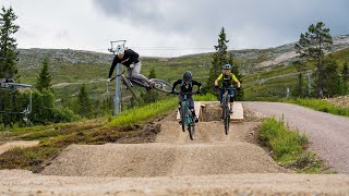
<svg viewBox="0 0 349 196">
<path fill-rule="evenodd" d="M 303 106 L 303 107 L 311 108 L 316 111 L 332 113 L 335 115 L 349 117 L 349 109 L 348 108 L 340 108 L 340 107 L 332 105 L 325 100 L 293 99 L 293 100 L 287 100 L 286 102 Z"/>
</svg>

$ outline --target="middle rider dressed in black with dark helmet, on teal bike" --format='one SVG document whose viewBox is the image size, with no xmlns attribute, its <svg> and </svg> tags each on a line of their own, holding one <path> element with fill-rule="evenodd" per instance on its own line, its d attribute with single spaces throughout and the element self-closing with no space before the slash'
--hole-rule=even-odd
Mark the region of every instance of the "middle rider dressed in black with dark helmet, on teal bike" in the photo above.
<svg viewBox="0 0 349 196">
<path fill-rule="evenodd" d="M 184 96 L 181 93 L 192 93 L 193 86 L 196 85 L 198 87 L 196 93 L 200 94 L 200 89 L 201 89 L 202 84 L 192 79 L 192 73 L 190 71 L 185 71 L 183 74 L 183 78 L 178 79 L 173 83 L 171 94 L 174 94 L 174 88 L 177 85 L 180 85 L 180 94 L 179 94 L 179 110 L 180 110 L 180 105 L 184 99 Z M 198 119 L 195 114 L 194 99 L 193 99 L 192 95 L 191 94 L 186 95 L 186 99 L 188 99 L 188 103 L 189 103 L 189 109 L 193 113 L 195 123 L 197 123 Z M 182 123 L 182 122 L 180 121 L 179 123 Z"/>
</svg>

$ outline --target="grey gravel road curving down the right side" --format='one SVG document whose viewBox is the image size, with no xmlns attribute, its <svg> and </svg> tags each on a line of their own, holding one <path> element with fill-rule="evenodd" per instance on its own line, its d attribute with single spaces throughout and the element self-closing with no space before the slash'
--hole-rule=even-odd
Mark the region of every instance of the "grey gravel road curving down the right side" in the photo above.
<svg viewBox="0 0 349 196">
<path fill-rule="evenodd" d="M 260 115 L 281 118 L 292 130 L 305 133 L 310 148 L 328 167 L 349 173 L 349 118 L 318 112 L 300 106 L 280 102 L 243 102 L 244 108 Z"/>
</svg>

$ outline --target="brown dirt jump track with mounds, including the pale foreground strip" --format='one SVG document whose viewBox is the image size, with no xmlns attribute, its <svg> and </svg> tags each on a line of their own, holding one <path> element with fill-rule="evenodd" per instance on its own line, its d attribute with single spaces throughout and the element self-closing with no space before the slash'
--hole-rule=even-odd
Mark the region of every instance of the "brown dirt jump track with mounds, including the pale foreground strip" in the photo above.
<svg viewBox="0 0 349 196">
<path fill-rule="evenodd" d="M 72 145 L 41 174 L 0 171 L 0 194 L 256 195 L 349 193 L 349 175 L 300 175 L 255 144 L 258 122 L 200 122 L 190 140 L 174 120 L 154 143 Z M 253 118 L 251 118 L 253 119 Z"/>
</svg>

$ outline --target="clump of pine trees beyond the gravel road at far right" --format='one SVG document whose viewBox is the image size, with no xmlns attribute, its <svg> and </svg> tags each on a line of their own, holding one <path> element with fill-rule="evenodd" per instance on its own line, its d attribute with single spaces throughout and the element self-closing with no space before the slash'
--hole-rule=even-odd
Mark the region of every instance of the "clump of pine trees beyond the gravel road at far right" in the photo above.
<svg viewBox="0 0 349 196">
<path fill-rule="evenodd" d="M 308 32 L 300 35 L 294 46 L 300 58 L 299 61 L 293 62 L 299 72 L 298 84 L 294 87 L 296 97 L 323 98 L 348 94 L 348 62 L 345 62 L 339 70 L 339 64 L 332 59 L 332 54 L 325 58 L 332 47 L 333 38 L 329 28 L 326 28 L 323 22 L 316 25 L 311 24 Z M 312 72 L 314 79 L 305 86 L 304 71 L 309 69 L 309 64 L 315 65 Z"/>
</svg>

